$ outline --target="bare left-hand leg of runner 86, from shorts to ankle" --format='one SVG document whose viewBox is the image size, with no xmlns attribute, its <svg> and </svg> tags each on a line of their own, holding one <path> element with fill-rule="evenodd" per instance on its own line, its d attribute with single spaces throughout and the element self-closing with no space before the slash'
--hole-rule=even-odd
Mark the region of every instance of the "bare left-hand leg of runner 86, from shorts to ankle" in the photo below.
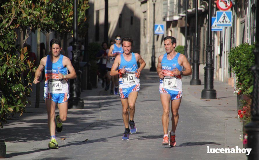
<svg viewBox="0 0 259 160">
<path fill-rule="evenodd" d="M 171 96 L 167 93 L 160 93 L 160 99 L 163 106 L 163 115 L 162 115 L 162 125 L 164 134 L 167 134 L 168 132 L 168 125 L 169 125 L 169 105 Z"/>
</svg>

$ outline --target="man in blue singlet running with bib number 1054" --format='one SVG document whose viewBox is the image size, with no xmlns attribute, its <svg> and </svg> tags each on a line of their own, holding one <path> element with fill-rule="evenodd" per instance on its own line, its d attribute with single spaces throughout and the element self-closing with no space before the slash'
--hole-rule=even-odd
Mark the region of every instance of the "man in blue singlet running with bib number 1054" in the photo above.
<svg viewBox="0 0 259 160">
<path fill-rule="evenodd" d="M 40 65 L 36 70 L 34 84 L 39 83 L 39 77 L 45 69 L 44 99 L 48 113 L 48 127 L 51 141 L 49 148 L 58 148 L 55 134 L 55 119 L 57 132 L 62 131 L 62 122 L 66 120 L 68 113 L 68 79 L 77 77 L 74 67 L 68 57 L 60 54 L 61 42 L 58 39 L 50 41 L 51 55 L 47 55 L 40 60 Z M 69 70 L 69 74 L 68 74 Z M 58 103 L 59 115 L 55 118 L 55 106 Z"/>
</svg>

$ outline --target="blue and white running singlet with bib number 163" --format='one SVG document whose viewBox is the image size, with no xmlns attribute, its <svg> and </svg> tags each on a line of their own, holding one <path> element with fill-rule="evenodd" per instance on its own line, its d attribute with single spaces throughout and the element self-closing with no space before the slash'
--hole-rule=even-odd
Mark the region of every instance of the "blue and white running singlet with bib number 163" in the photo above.
<svg viewBox="0 0 259 160">
<path fill-rule="evenodd" d="M 132 52 L 131 55 L 132 57 L 130 61 L 126 61 L 123 54 L 120 55 L 119 69 L 122 69 L 125 66 L 124 69 L 126 70 L 125 74 L 120 74 L 120 88 L 128 88 L 139 84 L 139 77 L 136 77 L 138 64 L 135 54 Z"/>
</svg>

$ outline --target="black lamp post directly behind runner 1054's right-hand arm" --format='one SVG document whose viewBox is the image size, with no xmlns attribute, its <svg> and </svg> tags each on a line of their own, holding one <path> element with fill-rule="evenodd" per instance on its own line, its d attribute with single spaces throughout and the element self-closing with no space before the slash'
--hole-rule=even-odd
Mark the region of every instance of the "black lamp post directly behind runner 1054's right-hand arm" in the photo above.
<svg viewBox="0 0 259 160">
<path fill-rule="evenodd" d="M 68 100 L 69 109 L 84 109 L 84 100 L 80 98 L 81 95 L 81 74 L 79 70 L 79 44 L 77 41 L 77 0 L 74 0 L 73 13 L 73 50 L 72 50 L 72 65 L 77 74 L 77 78 L 70 79 L 70 98 Z"/>
</svg>

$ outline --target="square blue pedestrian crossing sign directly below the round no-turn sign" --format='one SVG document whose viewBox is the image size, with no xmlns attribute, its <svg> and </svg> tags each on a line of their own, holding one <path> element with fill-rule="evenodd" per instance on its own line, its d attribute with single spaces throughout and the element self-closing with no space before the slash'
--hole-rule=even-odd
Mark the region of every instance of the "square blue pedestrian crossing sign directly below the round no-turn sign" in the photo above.
<svg viewBox="0 0 259 160">
<path fill-rule="evenodd" d="M 232 26 L 232 11 L 217 11 L 217 26 Z"/>
</svg>

